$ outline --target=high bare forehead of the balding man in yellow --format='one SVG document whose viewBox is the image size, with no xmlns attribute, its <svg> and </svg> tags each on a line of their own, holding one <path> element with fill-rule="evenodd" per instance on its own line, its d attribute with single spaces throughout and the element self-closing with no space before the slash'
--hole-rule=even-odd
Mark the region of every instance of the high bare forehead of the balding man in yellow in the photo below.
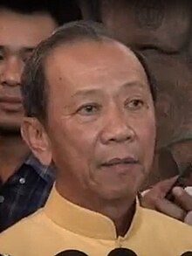
<svg viewBox="0 0 192 256">
<path fill-rule="evenodd" d="M 46 59 L 45 75 L 50 86 L 72 90 L 86 86 L 113 89 L 135 81 L 147 86 L 146 73 L 134 53 L 114 41 L 61 45 Z"/>
</svg>

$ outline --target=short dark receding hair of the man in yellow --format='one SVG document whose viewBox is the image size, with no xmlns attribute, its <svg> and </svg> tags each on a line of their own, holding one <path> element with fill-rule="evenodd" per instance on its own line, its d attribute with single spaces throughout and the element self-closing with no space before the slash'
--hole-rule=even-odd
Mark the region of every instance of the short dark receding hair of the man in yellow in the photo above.
<svg viewBox="0 0 192 256">
<path fill-rule="evenodd" d="M 84 40 L 97 42 L 116 41 L 101 24 L 93 21 L 77 21 L 64 24 L 50 38 L 45 39 L 38 45 L 31 58 L 27 61 L 21 79 L 21 91 L 26 116 L 37 117 L 40 121 L 45 121 L 47 117 L 48 83 L 45 77 L 46 57 L 59 45 L 79 43 Z M 134 52 L 134 54 L 147 74 L 148 84 L 155 100 L 154 78 L 148 72 L 145 59 L 141 54 L 138 52 Z"/>
</svg>

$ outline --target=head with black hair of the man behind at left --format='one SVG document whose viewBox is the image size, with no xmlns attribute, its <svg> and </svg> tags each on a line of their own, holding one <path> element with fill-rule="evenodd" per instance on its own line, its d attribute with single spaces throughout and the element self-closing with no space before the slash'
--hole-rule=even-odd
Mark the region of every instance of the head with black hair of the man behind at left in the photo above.
<svg viewBox="0 0 192 256">
<path fill-rule="evenodd" d="M 21 73 L 34 47 L 51 35 L 61 19 L 57 1 L 0 2 L 0 133 L 19 132 L 23 117 Z"/>
</svg>

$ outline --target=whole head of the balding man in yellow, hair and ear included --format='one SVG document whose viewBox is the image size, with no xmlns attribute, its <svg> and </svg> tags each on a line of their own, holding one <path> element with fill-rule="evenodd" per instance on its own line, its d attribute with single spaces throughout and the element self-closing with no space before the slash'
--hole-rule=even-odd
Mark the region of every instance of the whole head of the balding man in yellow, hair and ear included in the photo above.
<svg viewBox="0 0 192 256">
<path fill-rule="evenodd" d="M 24 70 L 24 139 L 67 193 L 135 195 L 153 161 L 152 85 L 134 52 L 95 24 L 66 24 Z"/>
</svg>

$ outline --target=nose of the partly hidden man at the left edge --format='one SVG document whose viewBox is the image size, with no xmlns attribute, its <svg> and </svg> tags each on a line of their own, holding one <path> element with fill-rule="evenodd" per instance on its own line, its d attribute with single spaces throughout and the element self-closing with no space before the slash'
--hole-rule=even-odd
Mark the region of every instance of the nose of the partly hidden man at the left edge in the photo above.
<svg viewBox="0 0 192 256">
<path fill-rule="evenodd" d="M 23 72 L 23 63 L 16 57 L 6 59 L 2 64 L 1 84 L 2 86 L 20 86 L 21 74 Z"/>
</svg>

